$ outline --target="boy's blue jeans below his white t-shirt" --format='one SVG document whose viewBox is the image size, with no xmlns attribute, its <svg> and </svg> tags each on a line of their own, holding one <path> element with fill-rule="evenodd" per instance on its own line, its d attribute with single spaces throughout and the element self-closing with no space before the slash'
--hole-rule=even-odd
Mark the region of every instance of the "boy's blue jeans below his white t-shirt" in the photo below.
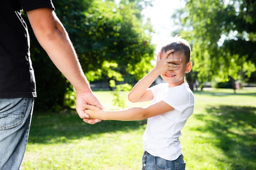
<svg viewBox="0 0 256 170">
<path fill-rule="evenodd" d="M 154 157 L 148 152 L 143 153 L 142 166 L 145 165 L 145 170 L 185 170 L 186 163 L 183 160 L 183 155 L 174 161 L 168 161 L 160 157 Z"/>
</svg>

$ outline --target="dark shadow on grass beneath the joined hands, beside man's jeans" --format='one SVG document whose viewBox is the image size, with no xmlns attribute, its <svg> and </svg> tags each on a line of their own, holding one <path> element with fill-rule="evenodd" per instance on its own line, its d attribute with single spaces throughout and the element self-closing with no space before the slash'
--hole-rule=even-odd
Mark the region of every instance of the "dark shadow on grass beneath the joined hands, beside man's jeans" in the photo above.
<svg viewBox="0 0 256 170">
<path fill-rule="evenodd" d="M 144 126 L 143 121 L 101 121 L 91 125 L 83 122 L 75 110 L 63 113 L 34 113 L 29 132 L 29 143 L 65 143 L 81 137 L 99 137 L 105 132 L 130 131 Z"/>
</svg>

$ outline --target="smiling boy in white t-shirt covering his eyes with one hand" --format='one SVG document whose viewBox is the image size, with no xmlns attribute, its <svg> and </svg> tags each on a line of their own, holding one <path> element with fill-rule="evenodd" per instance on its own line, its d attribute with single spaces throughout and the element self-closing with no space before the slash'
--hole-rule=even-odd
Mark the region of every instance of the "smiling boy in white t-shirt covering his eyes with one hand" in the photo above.
<svg viewBox="0 0 256 170">
<path fill-rule="evenodd" d="M 132 121 L 148 118 L 143 135 L 143 167 L 146 170 L 184 170 L 182 147 L 179 137 L 186 120 L 193 113 L 194 95 L 184 82 L 192 68 L 189 43 L 179 37 L 162 47 L 156 66 L 130 91 L 131 102 L 152 100 L 143 108 L 101 110 L 84 105 L 90 119 Z M 161 75 L 166 83 L 149 86 Z"/>
</svg>

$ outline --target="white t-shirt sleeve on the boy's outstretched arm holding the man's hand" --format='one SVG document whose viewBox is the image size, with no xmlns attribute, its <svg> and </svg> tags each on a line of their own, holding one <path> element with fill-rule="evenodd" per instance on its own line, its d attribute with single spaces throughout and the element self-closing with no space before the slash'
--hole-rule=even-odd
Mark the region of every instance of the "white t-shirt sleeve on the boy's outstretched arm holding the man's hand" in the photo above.
<svg viewBox="0 0 256 170">
<path fill-rule="evenodd" d="M 177 86 L 177 88 L 168 91 L 162 101 L 181 113 L 192 105 L 191 95 L 184 86 Z"/>
</svg>

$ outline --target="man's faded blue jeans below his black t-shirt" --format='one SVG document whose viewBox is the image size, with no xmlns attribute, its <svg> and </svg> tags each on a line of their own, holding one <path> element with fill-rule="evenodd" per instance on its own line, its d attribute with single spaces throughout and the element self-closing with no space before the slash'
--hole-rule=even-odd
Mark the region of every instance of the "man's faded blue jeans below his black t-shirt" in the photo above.
<svg viewBox="0 0 256 170">
<path fill-rule="evenodd" d="M 19 170 L 27 146 L 34 98 L 0 99 L 0 170 Z"/>
</svg>

